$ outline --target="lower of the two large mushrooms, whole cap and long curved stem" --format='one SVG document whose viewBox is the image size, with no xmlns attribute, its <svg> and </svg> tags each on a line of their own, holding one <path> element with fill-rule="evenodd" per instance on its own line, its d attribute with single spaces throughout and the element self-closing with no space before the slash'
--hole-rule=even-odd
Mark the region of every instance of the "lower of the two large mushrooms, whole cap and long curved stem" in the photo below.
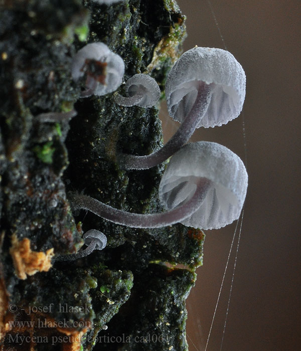
<svg viewBox="0 0 301 351">
<path fill-rule="evenodd" d="M 241 159 L 211 142 L 185 145 L 170 160 L 159 196 L 168 211 L 141 215 L 114 209 L 82 194 L 71 194 L 75 209 L 134 228 L 159 228 L 175 223 L 202 229 L 220 228 L 238 219 L 247 189 Z"/>
</svg>

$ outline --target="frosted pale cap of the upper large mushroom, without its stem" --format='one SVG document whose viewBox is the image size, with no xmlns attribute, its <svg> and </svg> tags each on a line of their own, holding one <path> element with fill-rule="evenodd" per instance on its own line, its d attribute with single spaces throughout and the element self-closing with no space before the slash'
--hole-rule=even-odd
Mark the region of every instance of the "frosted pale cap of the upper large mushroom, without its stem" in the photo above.
<svg viewBox="0 0 301 351">
<path fill-rule="evenodd" d="M 219 126 L 238 117 L 245 98 L 243 68 L 228 51 L 198 47 L 186 51 L 169 72 L 165 92 L 170 116 L 183 122 L 198 89 L 209 84 L 211 101 L 197 128 Z"/>
</svg>

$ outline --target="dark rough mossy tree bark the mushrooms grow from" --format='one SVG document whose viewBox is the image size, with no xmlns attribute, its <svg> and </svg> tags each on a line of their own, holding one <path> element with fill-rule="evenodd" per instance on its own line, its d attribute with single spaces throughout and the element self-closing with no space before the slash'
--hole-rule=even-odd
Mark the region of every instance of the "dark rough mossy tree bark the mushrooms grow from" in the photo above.
<svg viewBox="0 0 301 351">
<path fill-rule="evenodd" d="M 164 96 L 184 16 L 173 0 L 3 0 L 0 10 L 0 348 L 143 350 L 151 342 L 152 350 L 187 349 L 185 299 L 202 263 L 203 233 L 180 224 L 126 228 L 72 213 L 67 196 L 84 192 L 137 213 L 163 210 L 165 165 L 124 171 L 115 157 L 162 145 L 158 108 L 120 107 L 114 94 L 80 99 L 70 63 L 86 43 L 104 42 L 123 58 L 125 80 L 150 74 Z M 72 108 L 78 114 L 70 123 L 37 118 Z M 92 228 L 106 234 L 105 250 L 49 265 L 52 252 L 76 252 Z"/>
</svg>

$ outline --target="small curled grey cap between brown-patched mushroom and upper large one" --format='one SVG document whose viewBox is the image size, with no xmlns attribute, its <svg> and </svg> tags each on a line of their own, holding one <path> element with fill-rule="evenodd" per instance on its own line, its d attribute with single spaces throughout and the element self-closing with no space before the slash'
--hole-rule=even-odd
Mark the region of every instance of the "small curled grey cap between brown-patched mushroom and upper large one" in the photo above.
<svg viewBox="0 0 301 351">
<path fill-rule="evenodd" d="M 160 99 L 161 91 L 156 80 L 147 74 L 135 74 L 125 84 L 128 96 L 142 93 L 143 98 L 137 105 L 142 107 L 154 106 Z"/>
</svg>

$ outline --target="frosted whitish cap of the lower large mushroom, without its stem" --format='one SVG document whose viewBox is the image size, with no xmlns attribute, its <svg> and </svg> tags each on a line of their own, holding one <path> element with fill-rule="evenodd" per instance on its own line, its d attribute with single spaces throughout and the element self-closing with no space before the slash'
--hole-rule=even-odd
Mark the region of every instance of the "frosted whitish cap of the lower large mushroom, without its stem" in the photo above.
<svg viewBox="0 0 301 351">
<path fill-rule="evenodd" d="M 248 175 L 242 160 L 214 142 L 186 144 L 176 152 L 163 174 L 159 197 L 167 210 L 190 199 L 198 178 L 211 182 L 201 207 L 181 223 L 201 229 L 218 229 L 239 218 Z"/>
</svg>

